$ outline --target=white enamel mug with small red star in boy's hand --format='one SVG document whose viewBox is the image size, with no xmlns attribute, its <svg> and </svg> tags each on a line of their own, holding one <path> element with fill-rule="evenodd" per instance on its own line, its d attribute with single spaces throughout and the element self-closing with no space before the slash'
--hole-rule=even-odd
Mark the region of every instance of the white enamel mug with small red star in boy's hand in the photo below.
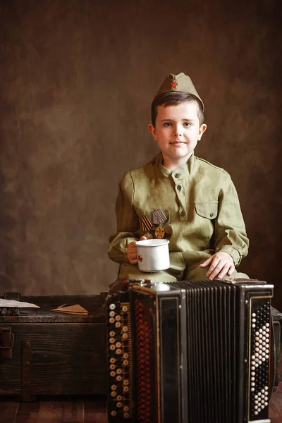
<svg viewBox="0 0 282 423">
<path fill-rule="evenodd" d="M 137 241 L 137 259 L 140 271 L 160 271 L 168 269 L 169 250 L 168 240 Z"/>
</svg>

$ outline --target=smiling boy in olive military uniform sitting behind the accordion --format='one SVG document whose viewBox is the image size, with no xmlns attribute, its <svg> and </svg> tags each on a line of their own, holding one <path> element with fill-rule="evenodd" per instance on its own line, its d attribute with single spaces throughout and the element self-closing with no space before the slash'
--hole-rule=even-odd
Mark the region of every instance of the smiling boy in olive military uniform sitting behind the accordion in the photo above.
<svg viewBox="0 0 282 423">
<path fill-rule="evenodd" d="M 188 75 L 165 78 L 148 128 L 161 152 L 125 173 L 119 184 L 117 232 L 108 249 L 110 259 L 121 264 L 118 278 L 246 278 L 235 271 L 249 241 L 231 177 L 194 155 L 207 125 L 204 104 Z M 146 238 L 169 239 L 168 270 L 139 271 L 135 242 Z"/>
</svg>

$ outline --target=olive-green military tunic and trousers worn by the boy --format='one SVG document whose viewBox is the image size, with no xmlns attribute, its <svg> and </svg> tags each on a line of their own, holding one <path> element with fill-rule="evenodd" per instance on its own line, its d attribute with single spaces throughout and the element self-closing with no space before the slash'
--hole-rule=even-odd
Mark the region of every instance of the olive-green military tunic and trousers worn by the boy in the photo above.
<svg viewBox="0 0 282 423">
<path fill-rule="evenodd" d="M 247 255 L 249 241 L 229 174 L 194 154 L 175 171 L 165 168 L 161 161 L 159 153 L 144 166 L 125 173 L 119 184 L 117 232 L 111 235 L 108 249 L 110 259 L 121 264 L 119 277 L 202 279 L 207 269 L 198 265 L 219 251 L 228 252 L 238 266 Z M 166 217 L 161 225 L 154 219 L 157 209 Z M 155 274 L 140 272 L 137 265 L 128 262 L 128 243 L 142 235 L 158 238 L 160 226 L 164 228 L 161 235 L 170 241 L 171 266 Z M 232 275 L 242 276 L 236 272 Z"/>
</svg>

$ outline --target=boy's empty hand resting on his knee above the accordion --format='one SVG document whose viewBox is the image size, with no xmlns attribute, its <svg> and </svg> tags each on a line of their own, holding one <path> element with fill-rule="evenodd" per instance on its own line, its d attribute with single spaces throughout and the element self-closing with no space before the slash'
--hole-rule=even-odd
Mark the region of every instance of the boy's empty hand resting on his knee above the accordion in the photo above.
<svg viewBox="0 0 282 423">
<path fill-rule="evenodd" d="M 207 271 L 207 278 L 211 281 L 214 278 L 222 279 L 226 274 L 231 276 L 235 270 L 233 258 L 228 252 L 219 251 L 216 254 L 209 257 L 204 263 L 200 264 L 200 267 L 209 266 Z"/>
</svg>

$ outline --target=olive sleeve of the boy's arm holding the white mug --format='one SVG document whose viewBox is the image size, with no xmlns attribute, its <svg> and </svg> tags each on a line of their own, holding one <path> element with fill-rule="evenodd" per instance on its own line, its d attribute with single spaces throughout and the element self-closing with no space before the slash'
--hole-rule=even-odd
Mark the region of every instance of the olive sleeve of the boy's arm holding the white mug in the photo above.
<svg viewBox="0 0 282 423">
<path fill-rule="evenodd" d="M 128 262 L 125 251 L 128 244 L 139 239 L 139 219 L 133 207 L 134 184 L 130 172 L 125 173 L 118 185 L 116 198 L 116 232 L 109 238 L 108 255 L 120 264 Z"/>
</svg>

